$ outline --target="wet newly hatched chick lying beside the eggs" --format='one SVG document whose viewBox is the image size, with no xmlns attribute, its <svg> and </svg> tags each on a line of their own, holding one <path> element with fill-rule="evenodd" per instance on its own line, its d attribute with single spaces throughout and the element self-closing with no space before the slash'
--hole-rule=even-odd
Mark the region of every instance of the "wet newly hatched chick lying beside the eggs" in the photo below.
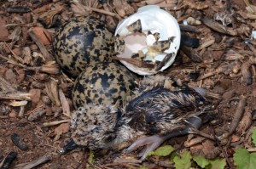
<svg viewBox="0 0 256 169">
<path fill-rule="evenodd" d="M 127 152 L 146 145 L 140 154 L 144 160 L 148 151 L 166 139 L 187 134 L 191 127 L 200 127 L 202 110 L 209 104 L 203 89 L 174 87 L 163 76 L 144 80 L 135 93 L 136 97 L 124 109 L 88 105 L 76 111 L 72 120 L 73 140 L 69 145 L 113 150 L 131 145 Z"/>
</svg>

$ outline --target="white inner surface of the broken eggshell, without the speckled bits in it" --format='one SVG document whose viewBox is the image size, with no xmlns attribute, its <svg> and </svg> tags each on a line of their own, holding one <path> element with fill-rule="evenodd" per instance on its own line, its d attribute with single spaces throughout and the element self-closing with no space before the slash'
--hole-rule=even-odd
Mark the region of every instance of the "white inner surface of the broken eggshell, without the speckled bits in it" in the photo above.
<svg viewBox="0 0 256 169">
<path fill-rule="evenodd" d="M 143 33 L 134 33 L 127 30 L 127 26 L 133 24 L 137 20 L 141 20 Z M 124 37 L 125 40 L 125 52 L 117 55 L 117 57 L 131 58 L 132 54 L 136 54 L 139 50 L 142 50 L 144 54 L 148 52 L 148 46 L 153 45 L 156 41 L 153 35 L 148 35 L 147 32 L 160 33 L 159 41 L 166 41 L 170 37 L 175 37 L 170 45 L 170 48 L 166 49 L 163 54 L 159 54 L 152 58 L 146 56 L 144 60 L 158 60 L 161 61 L 165 58 L 166 54 L 172 54 L 170 59 L 160 71 L 166 70 L 172 63 L 177 54 L 177 50 L 180 45 L 180 29 L 177 24 L 177 20 L 165 10 L 160 9 L 156 5 L 148 5 L 139 8 L 136 14 L 132 14 L 130 17 L 122 20 L 115 31 L 115 36 L 119 35 Z M 131 65 L 124 60 L 121 62 L 131 71 L 139 75 L 153 75 L 157 73 L 155 70 L 148 70 L 148 68 L 139 68 L 135 65 Z"/>
</svg>

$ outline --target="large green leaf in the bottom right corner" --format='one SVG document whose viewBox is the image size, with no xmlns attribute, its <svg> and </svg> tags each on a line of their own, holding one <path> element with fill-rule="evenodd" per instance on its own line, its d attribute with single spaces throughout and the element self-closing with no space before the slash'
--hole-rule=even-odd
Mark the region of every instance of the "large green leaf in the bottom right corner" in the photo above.
<svg viewBox="0 0 256 169">
<path fill-rule="evenodd" d="M 256 166 L 256 153 L 249 153 L 247 149 L 236 149 L 234 162 L 237 169 L 253 169 Z"/>
</svg>

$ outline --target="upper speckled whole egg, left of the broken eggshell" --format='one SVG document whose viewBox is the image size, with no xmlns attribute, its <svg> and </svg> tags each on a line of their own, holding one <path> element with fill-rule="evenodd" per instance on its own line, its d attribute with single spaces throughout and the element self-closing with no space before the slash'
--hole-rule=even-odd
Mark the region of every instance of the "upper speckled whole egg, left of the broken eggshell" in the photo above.
<svg viewBox="0 0 256 169">
<path fill-rule="evenodd" d="M 113 33 L 96 18 L 76 17 L 56 31 L 53 51 L 62 70 L 76 77 L 90 64 L 110 61 Z"/>
</svg>

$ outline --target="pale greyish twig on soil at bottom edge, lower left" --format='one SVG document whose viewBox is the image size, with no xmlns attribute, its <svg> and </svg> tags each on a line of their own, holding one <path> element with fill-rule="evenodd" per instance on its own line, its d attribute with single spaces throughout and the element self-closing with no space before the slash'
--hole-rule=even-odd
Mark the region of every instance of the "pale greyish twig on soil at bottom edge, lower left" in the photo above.
<svg viewBox="0 0 256 169">
<path fill-rule="evenodd" d="M 31 162 L 25 163 L 25 164 L 19 164 L 19 165 L 15 166 L 15 169 L 31 169 L 31 168 L 38 166 L 46 161 L 50 161 L 51 159 L 52 159 L 52 157 L 50 155 L 44 155 L 42 157 L 39 157 L 38 160 L 31 161 Z"/>
</svg>

